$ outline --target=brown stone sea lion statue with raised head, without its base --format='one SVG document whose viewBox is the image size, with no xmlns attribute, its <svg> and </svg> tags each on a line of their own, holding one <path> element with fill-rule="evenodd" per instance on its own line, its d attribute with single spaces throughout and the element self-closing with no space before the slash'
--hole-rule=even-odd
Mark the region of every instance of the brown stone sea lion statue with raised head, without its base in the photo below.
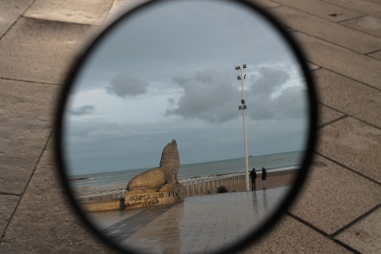
<svg viewBox="0 0 381 254">
<path fill-rule="evenodd" d="M 128 183 L 128 194 L 142 194 L 148 192 L 166 192 L 178 187 L 177 173 L 180 168 L 176 140 L 168 143 L 161 154 L 160 165 L 141 172 Z"/>
</svg>

